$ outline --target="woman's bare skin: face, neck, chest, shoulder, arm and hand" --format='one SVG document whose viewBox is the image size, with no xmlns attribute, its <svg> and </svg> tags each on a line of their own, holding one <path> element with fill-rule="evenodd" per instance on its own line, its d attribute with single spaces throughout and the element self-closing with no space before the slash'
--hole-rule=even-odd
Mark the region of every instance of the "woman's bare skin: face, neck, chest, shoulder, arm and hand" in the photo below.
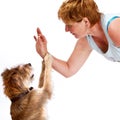
<svg viewBox="0 0 120 120">
<path fill-rule="evenodd" d="M 120 46 L 120 27 L 118 26 L 120 26 L 120 18 L 113 20 L 108 27 L 108 34 L 117 47 Z M 100 22 L 90 27 L 90 22 L 87 18 L 83 18 L 81 22 L 65 25 L 65 30 L 74 35 L 78 40 L 67 61 L 60 60 L 53 56 L 52 67 L 64 77 L 70 77 L 80 70 L 92 52 L 85 38 L 86 35 L 92 35 L 94 41 L 103 52 L 107 51 L 108 43 Z M 36 41 L 36 51 L 44 58 L 45 54 L 48 53 L 47 40 L 39 28 L 37 28 L 37 36 L 34 36 L 34 39 Z"/>
</svg>

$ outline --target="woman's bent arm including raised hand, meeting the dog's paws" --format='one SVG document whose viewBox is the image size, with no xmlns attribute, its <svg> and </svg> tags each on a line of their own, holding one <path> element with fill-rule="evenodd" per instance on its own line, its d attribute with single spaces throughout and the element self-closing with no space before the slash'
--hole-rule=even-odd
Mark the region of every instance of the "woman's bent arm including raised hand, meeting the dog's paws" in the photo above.
<svg viewBox="0 0 120 120">
<path fill-rule="evenodd" d="M 34 39 L 36 40 L 36 51 L 44 58 L 46 53 L 48 53 L 47 40 L 39 28 L 37 29 L 37 34 L 38 37 L 34 36 Z M 77 41 L 68 61 L 63 61 L 53 56 L 52 67 L 64 77 L 70 77 L 82 67 L 91 51 L 87 40 L 85 38 L 80 39 Z"/>
</svg>

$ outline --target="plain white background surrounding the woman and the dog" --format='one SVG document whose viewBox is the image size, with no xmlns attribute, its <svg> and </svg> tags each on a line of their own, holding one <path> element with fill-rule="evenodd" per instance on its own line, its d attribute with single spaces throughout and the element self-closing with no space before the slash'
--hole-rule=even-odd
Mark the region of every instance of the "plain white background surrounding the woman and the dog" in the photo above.
<svg viewBox="0 0 120 120">
<path fill-rule="evenodd" d="M 42 59 L 33 35 L 40 27 L 51 54 L 67 60 L 76 39 L 65 33 L 57 11 L 63 0 L 0 1 L 0 73 L 5 68 L 30 62 L 37 87 Z M 105 13 L 120 12 L 119 0 L 97 0 Z M 95 51 L 71 78 L 52 71 L 53 97 L 48 102 L 49 120 L 120 120 L 120 63 L 106 60 Z M 11 120 L 10 100 L 0 78 L 0 119 Z"/>
</svg>

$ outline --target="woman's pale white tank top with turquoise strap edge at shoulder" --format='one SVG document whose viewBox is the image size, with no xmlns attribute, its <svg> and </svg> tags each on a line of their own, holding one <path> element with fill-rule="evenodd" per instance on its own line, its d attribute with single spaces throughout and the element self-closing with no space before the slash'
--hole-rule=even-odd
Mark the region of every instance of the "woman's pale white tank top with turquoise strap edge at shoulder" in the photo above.
<svg viewBox="0 0 120 120">
<path fill-rule="evenodd" d="M 115 61 L 115 62 L 118 62 L 118 61 L 120 62 L 120 47 L 116 47 L 112 42 L 110 36 L 108 35 L 108 26 L 112 20 L 118 17 L 120 17 L 120 14 L 102 14 L 101 15 L 101 25 L 108 41 L 108 50 L 105 53 L 97 46 L 97 44 L 94 42 L 91 35 L 86 36 L 86 39 L 88 40 L 92 49 L 102 54 L 108 60 Z"/>
</svg>

